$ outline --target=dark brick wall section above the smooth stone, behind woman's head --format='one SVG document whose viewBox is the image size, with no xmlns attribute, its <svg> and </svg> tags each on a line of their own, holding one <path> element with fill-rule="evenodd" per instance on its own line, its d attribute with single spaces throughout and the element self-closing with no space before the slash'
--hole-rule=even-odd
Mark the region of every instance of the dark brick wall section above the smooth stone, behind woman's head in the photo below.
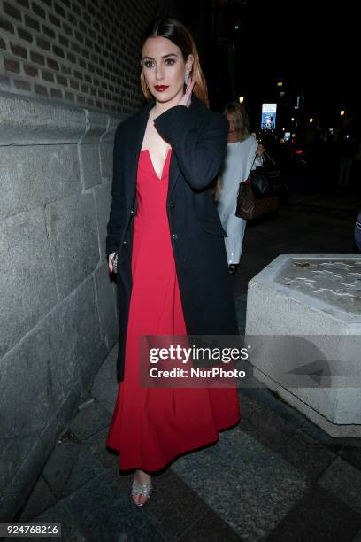
<svg viewBox="0 0 361 542">
<path fill-rule="evenodd" d="M 113 112 L 142 105 L 137 44 L 169 0 L 0 0 L 0 89 Z"/>
</svg>

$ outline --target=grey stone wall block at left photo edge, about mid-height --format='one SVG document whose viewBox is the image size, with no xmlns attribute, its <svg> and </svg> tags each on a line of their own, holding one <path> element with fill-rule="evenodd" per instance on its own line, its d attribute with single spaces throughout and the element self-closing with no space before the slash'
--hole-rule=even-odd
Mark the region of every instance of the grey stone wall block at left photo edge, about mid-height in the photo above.
<svg viewBox="0 0 361 542">
<path fill-rule="evenodd" d="M 0 222 L 0 356 L 58 302 L 42 207 Z"/>
</svg>

